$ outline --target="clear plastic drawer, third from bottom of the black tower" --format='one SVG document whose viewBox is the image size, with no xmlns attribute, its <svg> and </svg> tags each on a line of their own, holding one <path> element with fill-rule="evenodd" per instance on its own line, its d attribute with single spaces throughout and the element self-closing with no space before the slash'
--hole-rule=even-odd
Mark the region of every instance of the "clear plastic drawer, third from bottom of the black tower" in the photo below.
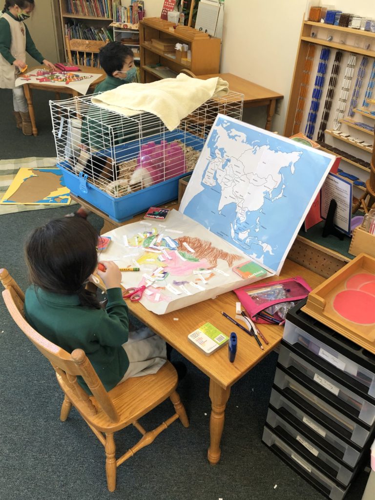
<svg viewBox="0 0 375 500">
<path fill-rule="evenodd" d="M 298 404 L 299 406 L 297 406 Z M 303 404 L 303 409 L 300 404 Z M 332 458 L 341 460 L 349 467 L 355 467 L 360 459 L 363 448 L 356 446 L 353 442 L 345 442 L 341 438 L 342 427 L 322 413 L 316 412 L 315 408 L 305 401 L 301 403 L 299 396 L 294 398 L 293 403 L 286 397 L 285 393 L 273 388 L 269 408 L 277 412 L 294 428 L 300 429 L 314 446 L 319 447 Z"/>
</svg>

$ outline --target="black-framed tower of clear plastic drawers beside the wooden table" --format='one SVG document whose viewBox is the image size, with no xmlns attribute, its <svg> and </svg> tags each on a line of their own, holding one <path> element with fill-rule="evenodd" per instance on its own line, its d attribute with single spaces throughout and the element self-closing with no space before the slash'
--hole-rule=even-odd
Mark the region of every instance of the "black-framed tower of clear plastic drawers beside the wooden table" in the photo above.
<svg viewBox="0 0 375 500">
<path fill-rule="evenodd" d="M 263 441 L 341 500 L 375 436 L 375 356 L 301 311 L 288 311 Z"/>
</svg>

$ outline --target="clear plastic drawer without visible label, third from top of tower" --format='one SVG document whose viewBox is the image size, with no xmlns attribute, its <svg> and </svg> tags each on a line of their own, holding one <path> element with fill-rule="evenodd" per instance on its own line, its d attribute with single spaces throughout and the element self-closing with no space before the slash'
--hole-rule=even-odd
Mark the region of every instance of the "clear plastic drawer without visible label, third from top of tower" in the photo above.
<svg viewBox="0 0 375 500">
<path fill-rule="evenodd" d="M 307 382 L 307 383 L 306 383 Z M 309 386 L 310 379 L 307 377 L 295 379 L 295 373 L 291 375 L 280 364 L 277 364 L 274 377 L 276 387 L 290 395 L 291 400 L 298 399 L 301 407 L 308 405 L 312 415 L 323 415 L 327 421 L 340 429 L 340 435 L 358 446 L 364 446 L 373 427 L 365 424 L 358 418 L 350 416 L 350 413 L 340 411 L 338 406 L 333 407 L 329 399 L 321 397 L 321 391 L 314 390 Z M 319 388 L 319 384 L 316 384 Z M 288 396 L 289 397 L 289 396 Z"/>
</svg>

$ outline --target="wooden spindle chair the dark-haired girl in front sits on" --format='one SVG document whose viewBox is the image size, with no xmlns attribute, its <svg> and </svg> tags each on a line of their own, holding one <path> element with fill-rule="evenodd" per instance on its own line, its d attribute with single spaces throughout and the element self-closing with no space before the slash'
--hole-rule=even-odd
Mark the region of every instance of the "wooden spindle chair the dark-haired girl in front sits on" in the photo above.
<svg viewBox="0 0 375 500">
<path fill-rule="evenodd" d="M 189 422 L 185 408 L 175 391 L 177 373 L 166 361 L 154 375 L 128 378 L 106 392 L 96 372 L 82 349 L 75 349 L 71 354 L 53 344 L 25 320 L 23 314 L 24 294 L 6 269 L 0 269 L 0 280 L 5 289 L 2 296 L 12 318 L 31 340 L 36 348 L 49 360 L 56 372 L 57 381 L 64 392 L 60 411 L 60 420 L 65 421 L 73 405 L 87 425 L 99 439 L 105 449 L 105 471 L 109 491 L 116 487 L 116 469 L 136 451 L 150 444 L 154 438 L 177 418 L 184 427 Z M 92 392 L 88 396 L 77 383 L 81 375 Z M 153 409 L 167 397 L 173 403 L 175 413 L 151 431 L 138 422 L 138 418 Z M 115 431 L 134 425 L 142 434 L 140 440 L 119 458 L 115 458 Z"/>
</svg>

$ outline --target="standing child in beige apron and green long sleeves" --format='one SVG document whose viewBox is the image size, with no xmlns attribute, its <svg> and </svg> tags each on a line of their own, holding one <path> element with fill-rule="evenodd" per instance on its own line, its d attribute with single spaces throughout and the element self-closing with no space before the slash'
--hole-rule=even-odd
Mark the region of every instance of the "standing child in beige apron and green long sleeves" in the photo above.
<svg viewBox="0 0 375 500">
<path fill-rule="evenodd" d="M 31 121 L 23 86 L 15 87 L 14 82 L 26 66 L 26 52 L 40 64 L 56 69 L 36 49 L 23 23 L 34 6 L 34 0 L 6 0 L 0 17 L 0 88 L 12 89 L 16 126 L 24 135 L 31 135 Z"/>
</svg>

